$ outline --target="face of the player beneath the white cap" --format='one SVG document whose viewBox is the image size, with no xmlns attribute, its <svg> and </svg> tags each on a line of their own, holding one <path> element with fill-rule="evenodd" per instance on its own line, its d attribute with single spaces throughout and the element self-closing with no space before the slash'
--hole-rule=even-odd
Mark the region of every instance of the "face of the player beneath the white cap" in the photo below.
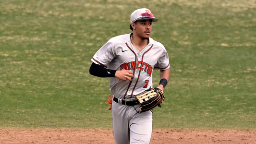
<svg viewBox="0 0 256 144">
<path fill-rule="evenodd" d="M 136 34 L 143 39 L 148 39 L 152 30 L 152 20 L 138 21 L 135 24 Z"/>
</svg>

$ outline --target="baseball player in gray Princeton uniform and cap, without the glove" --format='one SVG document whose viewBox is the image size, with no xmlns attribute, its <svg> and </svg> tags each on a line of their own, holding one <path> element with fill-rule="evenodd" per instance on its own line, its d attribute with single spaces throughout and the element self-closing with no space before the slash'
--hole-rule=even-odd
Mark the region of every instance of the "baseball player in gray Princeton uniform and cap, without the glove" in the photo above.
<svg viewBox="0 0 256 144">
<path fill-rule="evenodd" d="M 122 100 L 152 88 L 154 69 L 160 70 L 158 88 L 170 78 L 169 57 L 164 46 L 150 38 L 152 23 L 158 19 L 143 8 L 131 14 L 133 33 L 112 37 L 91 59 L 90 74 L 110 77 L 113 94 L 112 127 L 116 144 L 149 144 L 152 111 L 139 113 L 140 105 L 127 106 Z"/>
</svg>

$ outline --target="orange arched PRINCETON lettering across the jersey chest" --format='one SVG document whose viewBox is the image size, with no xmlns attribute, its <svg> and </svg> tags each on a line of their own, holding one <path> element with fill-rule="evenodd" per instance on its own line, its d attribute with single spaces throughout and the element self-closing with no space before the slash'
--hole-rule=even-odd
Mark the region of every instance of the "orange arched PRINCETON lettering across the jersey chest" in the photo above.
<svg viewBox="0 0 256 144">
<path fill-rule="evenodd" d="M 121 70 L 135 70 L 135 66 L 137 70 L 146 72 L 149 76 L 151 76 L 153 72 L 153 67 L 146 62 L 138 61 L 135 65 L 136 61 L 130 61 L 127 63 L 123 63 L 120 65 Z"/>
</svg>

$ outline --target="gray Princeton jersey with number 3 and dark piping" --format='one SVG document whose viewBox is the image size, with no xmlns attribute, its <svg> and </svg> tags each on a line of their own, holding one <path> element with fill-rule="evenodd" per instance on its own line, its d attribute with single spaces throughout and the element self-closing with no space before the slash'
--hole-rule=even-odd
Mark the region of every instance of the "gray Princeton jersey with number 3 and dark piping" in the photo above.
<svg viewBox="0 0 256 144">
<path fill-rule="evenodd" d="M 153 70 L 170 68 L 168 53 L 161 43 L 149 38 L 146 48 L 139 51 L 132 45 L 130 35 L 111 38 L 91 59 L 111 70 L 130 70 L 134 73 L 131 82 L 110 78 L 110 92 L 117 98 L 126 98 L 151 88 Z"/>
</svg>

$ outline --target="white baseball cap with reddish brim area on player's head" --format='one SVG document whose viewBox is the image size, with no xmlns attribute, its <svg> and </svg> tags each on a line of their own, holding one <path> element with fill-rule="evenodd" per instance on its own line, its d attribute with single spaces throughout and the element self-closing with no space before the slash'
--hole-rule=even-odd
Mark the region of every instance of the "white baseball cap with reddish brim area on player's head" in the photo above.
<svg viewBox="0 0 256 144">
<path fill-rule="evenodd" d="M 146 8 L 135 10 L 131 14 L 131 24 L 138 20 L 152 20 L 152 22 L 158 21 L 158 19 L 154 17 L 150 10 Z"/>
</svg>

